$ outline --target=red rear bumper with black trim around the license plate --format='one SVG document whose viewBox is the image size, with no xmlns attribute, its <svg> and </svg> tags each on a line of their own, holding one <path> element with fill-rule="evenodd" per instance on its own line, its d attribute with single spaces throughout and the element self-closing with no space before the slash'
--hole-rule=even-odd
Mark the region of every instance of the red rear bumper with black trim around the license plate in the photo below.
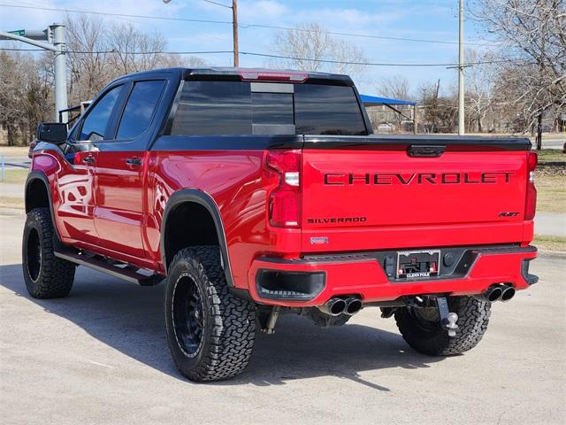
<svg viewBox="0 0 566 425">
<path fill-rule="evenodd" d="M 393 301 L 409 295 L 476 295 L 493 283 L 527 289 L 538 277 L 529 274 L 534 246 L 463 248 L 452 273 L 438 278 L 399 281 L 386 273 L 385 254 L 310 256 L 302 259 L 260 257 L 249 269 L 249 292 L 267 305 L 322 305 L 330 298 L 358 295 L 364 303 Z"/>
</svg>

